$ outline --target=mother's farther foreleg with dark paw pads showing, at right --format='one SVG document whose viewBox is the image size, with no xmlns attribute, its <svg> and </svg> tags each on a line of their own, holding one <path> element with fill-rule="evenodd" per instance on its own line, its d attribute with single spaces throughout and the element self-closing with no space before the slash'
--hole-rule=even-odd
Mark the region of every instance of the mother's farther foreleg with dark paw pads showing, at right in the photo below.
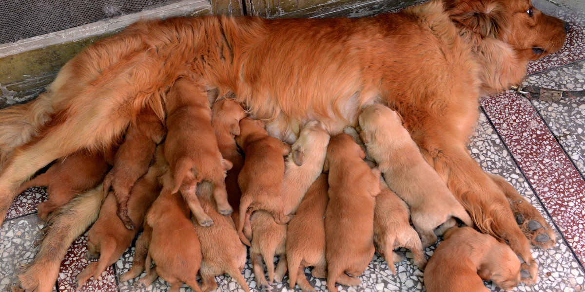
<svg viewBox="0 0 585 292">
<path fill-rule="evenodd" d="M 505 196 L 510 201 L 516 222 L 520 225 L 520 229 L 531 244 L 540 248 L 552 248 L 556 241 L 555 231 L 546 223 L 542 215 L 538 213 L 538 210 L 504 178 L 499 175 L 490 174 L 490 176 L 504 191 Z"/>
</svg>

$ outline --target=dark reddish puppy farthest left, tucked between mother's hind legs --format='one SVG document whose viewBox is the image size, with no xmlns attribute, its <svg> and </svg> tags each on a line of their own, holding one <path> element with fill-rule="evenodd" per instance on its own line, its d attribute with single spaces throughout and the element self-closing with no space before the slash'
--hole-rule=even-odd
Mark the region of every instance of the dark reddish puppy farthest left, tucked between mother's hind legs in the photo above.
<svg viewBox="0 0 585 292">
<path fill-rule="evenodd" d="M 23 183 L 16 192 L 22 193 L 32 186 L 47 187 L 47 200 L 37 206 L 39 218 L 44 221 L 53 210 L 98 185 L 109 167 L 104 154 L 78 151 L 58 159 L 45 173 Z"/>
</svg>

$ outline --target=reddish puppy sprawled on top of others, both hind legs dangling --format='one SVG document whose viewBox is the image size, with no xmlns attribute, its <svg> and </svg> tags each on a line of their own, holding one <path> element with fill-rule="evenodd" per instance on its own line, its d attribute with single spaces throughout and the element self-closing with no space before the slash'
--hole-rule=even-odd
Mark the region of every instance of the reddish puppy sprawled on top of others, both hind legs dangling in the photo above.
<svg viewBox="0 0 585 292">
<path fill-rule="evenodd" d="M 164 157 L 174 177 L 172 192 L 180 190 L 197 222 L 208 227 L 213 221 L 197 200 L 197 184 L 211 181 L 219 213 L 231 214 L 224 179 L 232 164 L 219 152 L 207 91 L 197 82 L 192 78 L 177 79 L 167 94 Z"/>
</svg>

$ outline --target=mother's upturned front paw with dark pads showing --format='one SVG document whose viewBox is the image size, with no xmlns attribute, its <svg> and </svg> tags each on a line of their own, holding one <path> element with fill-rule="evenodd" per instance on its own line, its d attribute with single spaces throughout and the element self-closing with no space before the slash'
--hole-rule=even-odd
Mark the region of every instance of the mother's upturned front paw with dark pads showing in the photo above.
<svg viewBox="0 0 585 292">
<path fill-rule="evenodd" d="M 528 201 L 525 199 L 512 201 L 511 207 L 516 223 L 532 246 L 548 249 L 555 245 L 555 231 Z"/>
</svg>

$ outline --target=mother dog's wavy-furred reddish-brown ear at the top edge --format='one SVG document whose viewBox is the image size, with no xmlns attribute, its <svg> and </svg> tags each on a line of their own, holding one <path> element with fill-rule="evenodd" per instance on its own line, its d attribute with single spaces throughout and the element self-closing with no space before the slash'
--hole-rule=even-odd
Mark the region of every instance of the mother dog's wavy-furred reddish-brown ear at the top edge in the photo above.
<svg viewBox="0 0 585 292">
<path fill-rule="evenodd" d="M 467 27 L 481 37 L 499 39 L 508 25 L 508 9 L 499 0 L 446 0 L 450 19 Z"/>
</svg>

